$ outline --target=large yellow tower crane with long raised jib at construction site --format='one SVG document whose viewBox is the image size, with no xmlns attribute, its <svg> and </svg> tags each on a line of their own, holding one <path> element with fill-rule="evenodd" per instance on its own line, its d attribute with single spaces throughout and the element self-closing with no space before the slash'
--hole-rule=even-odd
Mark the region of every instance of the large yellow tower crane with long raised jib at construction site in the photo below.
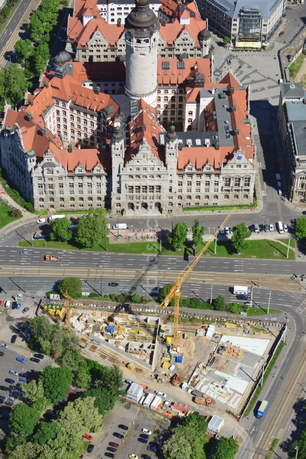
<svg viewBox="0 0 306 459">
<path fill-rule="evenodd" d="M 169 304 L 169 302 L 174 296 L 173 349 L 175 351 L 178 348 L 178 316 L 179 316 L 179 299 L 181 297 L 181 285 L 183 284 L 184 280 L 189 276 L 191 271 L 194 269 L 195 265 L 198 263 L 203 253 L 205 253 L 208 247 L 211 245 L 211 242 L 214 241 L 214 239 L 220 233 L 221 227 L 224 226 L 228 222 L 228 220 L 231 218 L 231 216 L 233 215 L 235 211 L 236 211 L 236 207 L 233 207 L 233 209 L 230 211 L 228 216 L 225 218 L 221 226 L 219 226 L 215 234 L 211 236 L 210 240 L 200 250 L 198 255 L 196 255 L 194 259 L 191 260 L 191 262 L 189 262 L 187 266 L 185 266 L 183 271 L 181 271 L 178 274 L 178 277 L 176 278 L 175 283 L 172 285 L 172 289 L 169 291 L 167 297 L 165 297 L 164 300 L 161 302 L 161 308 L 167 308 L 167 305 Z"/>
</svg>

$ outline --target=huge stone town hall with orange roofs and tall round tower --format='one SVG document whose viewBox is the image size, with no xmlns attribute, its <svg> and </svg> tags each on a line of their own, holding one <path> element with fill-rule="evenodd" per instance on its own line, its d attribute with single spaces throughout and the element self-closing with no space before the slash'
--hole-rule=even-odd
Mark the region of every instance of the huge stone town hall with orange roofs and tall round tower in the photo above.
<svg viewBox="0 0 306 459">
<path fill-rule="evenodd" d="M 143 215 L 253 202 L 250 88 L 231 72 L 212 83 L 209 56 L 159 59 L 159 30 L 138 0 L 125 62 L 66 62 L 19 111 L 5 106 L 2 167 L 36 209 Z"/>
</svg>

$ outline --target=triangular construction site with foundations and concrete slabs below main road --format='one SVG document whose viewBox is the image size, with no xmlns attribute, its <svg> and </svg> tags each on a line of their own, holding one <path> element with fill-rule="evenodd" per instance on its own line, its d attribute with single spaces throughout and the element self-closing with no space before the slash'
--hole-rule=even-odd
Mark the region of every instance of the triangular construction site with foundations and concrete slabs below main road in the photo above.
<svg viewBox="0 0 306 459">
<path fill-rule="evenodd" d="M 65 308 L 45 310 L 59 318 Z M 131 311 L 133 312 L 133 311 Z M 150 315 L 85 308 L 69 308 L 70 326 L 80 336 L 80 346 L 133 373 L 155 379 L 161 391 L 167 385 L 190 393 L 190 402 L 239 412 L 266 360 L 281 324 L 199 320 L 179 323 L 178 345 L 173 349 L 171 314 Z"/>
</svg>

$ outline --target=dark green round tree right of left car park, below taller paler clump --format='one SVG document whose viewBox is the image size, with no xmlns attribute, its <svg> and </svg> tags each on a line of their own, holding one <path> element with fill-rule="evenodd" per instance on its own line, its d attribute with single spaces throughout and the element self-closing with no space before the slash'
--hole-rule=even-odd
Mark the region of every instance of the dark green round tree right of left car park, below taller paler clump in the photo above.
<svg viewBox="0 0 306 459">
<path fill-rule="evenodd" d="M 40 373 L 39 380 L 43 384 L 45 397 L 55 404 L 59 400 L 66 398 L 73 375 L 68 367 L 55 368 L 48 366 Z"/>
</svg>

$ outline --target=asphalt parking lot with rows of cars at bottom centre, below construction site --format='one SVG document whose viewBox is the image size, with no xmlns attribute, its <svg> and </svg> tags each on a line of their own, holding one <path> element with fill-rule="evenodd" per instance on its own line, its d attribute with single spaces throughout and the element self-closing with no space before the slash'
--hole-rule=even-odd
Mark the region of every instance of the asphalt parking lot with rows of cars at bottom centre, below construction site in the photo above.
<svg viewBox="0 0 306 459">
<path fill-rule="evenodd" d="M 128 431 L 124 431 L 118 427 L 119 424 L 127 425 Z M 148 454 L 151 459 L 161 458 L 161 449 L 157 447 L 156 453 L 154 451 L 148 451 L 147 446 L 151 442 L 157 442 L 159 438 L 167 435 L 167 429 L 170 423 L 168 420 L 162 418 L 157 413 L 151 412 L 150 410 L 141 408 L 139 406 L 118 401 L 110 414 L 106 414 L 102 420 L 101 431 L 97 434 L 93 434 L 94 440 L 92 443 L 95 445 L 95 449 L 92 454 L 86 453 L 86 458 L 107 458 L 105 453 L 111 453 L 108 451 L 109 442 L 115 442 L 119 444 L 117 453 L 115 453 L 115 459 L 128 459 L 130 453 L 136 454 L 140 459 L 142 454 Z M 150 439 L 147 444 L 139 442 L 139 434 L 141 429 L 148 429 L 152 432 Z M 124 440 L 121 441 L 119 438 L 113 436 L 113 432 L 124 434 Z"/>
</svg>

